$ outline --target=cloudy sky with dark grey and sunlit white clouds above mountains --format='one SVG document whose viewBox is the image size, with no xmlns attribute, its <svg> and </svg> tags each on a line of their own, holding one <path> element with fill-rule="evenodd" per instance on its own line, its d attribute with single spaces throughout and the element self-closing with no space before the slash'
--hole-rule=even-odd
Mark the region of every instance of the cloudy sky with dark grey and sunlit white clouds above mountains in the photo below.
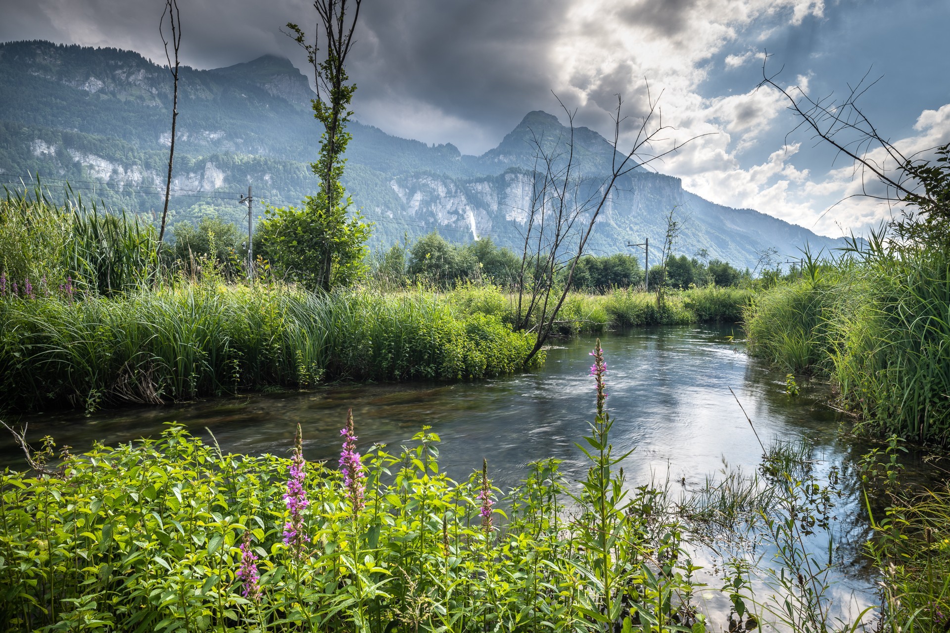
<svg viewBox="0 0 950 633">
<path fill-rule="evenodd" d="M 277 53 L 302 67 L 280 28 L 313 29 L 309 3 L 179 1 L 188 65 Z M 130 48 L 159 60 L 161 7 L 0 0 L 0 41 Z M 634 121 L 649 81 L 654 96 L 662 91 L 671 139 L 707 135 L 658 171 L 714 202 L 840 235 L 889 212 L 863 198 L 829 211 L 856 191 L 850 164 L 807 134 L 788 135 L 795 121 L 781 95 L 756 89 L 763 51 L 782 69 L 780 84 L 812 95 L 844 95 L 865 74 L 879 80 L 865 112 L 912 151 L 950 141 L 947 33 L 946 0 L 364 0 L 350 67 L 357 119 L 467 154 L 497 145 L 530 110 L 558 113 L 552 91 L 577 108 L 578 124 L 607 136 L 614 95 Z"/>
</svg>

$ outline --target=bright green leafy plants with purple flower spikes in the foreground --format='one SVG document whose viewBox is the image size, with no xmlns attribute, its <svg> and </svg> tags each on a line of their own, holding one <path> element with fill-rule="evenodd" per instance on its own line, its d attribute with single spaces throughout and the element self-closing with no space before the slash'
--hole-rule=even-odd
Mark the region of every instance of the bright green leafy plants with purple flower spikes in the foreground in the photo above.
<svg viewBox="0 0 950 633">
<path fill-rule="evenodd" d="M 428 427 L 401 452 L 362 457 L 359 497 L 326 462 L 222 455 L 178 426 L 65 455 L 57 475 L 7 471 L 0 625 L 701 633 L 678 521 L 661 490 L 623 486 L 601 410 L 602 399 L 586 438 L 592 475 L 571 511 L 558 460 L 532 464 L 508 493 L 486 464 L 456 482 Z M 292 478 L 309 502 L 299 547 L 283 538 Z"/>
</svg>

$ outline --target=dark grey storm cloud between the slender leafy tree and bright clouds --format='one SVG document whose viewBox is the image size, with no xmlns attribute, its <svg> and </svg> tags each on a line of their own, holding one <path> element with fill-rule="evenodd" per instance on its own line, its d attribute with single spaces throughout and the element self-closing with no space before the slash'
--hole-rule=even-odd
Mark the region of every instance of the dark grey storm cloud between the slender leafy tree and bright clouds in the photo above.
<svg viewBox="0 0 950 633">
<path fill-rule="evenodd" d="M 551 109 L 549 55 L 567 6 L 562 0 L 368 3 L 352 66 L 357 99 L 418 100 L 504 135 L 529 110 Z"/>
</svg>

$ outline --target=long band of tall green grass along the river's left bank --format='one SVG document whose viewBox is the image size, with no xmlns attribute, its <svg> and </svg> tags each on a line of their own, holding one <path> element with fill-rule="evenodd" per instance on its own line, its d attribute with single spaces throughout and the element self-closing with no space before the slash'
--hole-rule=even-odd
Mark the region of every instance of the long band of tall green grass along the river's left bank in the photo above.
<svg viewBox="0 0 950 633">
<path fill-rule="evenodd" d="M 0 301 L 0 400 L 160 402 L 325 380 L 454 380 L 520 368 L 533 344 L 424 293 L 173 288 Z M 542 359 L 538 361 L 542 363 Z"/>
</svg>

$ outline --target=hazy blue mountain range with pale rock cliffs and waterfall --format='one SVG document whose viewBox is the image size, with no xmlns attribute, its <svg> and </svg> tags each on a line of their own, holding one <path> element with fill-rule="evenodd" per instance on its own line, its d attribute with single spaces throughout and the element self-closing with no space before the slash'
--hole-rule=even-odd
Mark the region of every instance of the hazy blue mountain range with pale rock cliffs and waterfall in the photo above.
<svg viewBox="0 0 950 633">
<path fill-rule="evenodd" d="M 161 209 L 170 140 L 172 83 L 167 70 L 115 48 L 0 44 L 0 180 L 39 174 L 47 187 L 69 182 L 86 200 L 153 214 Z M 256 60 L 180 72 L 179 134 L 171 207 L 175 220 L 223 214 L 239 220 L 238 194 L 294 204 L 314 193 L 309 162 L 320 129 L 308 79 L 289 60 Z M 454 241 L 490 236 L 518 248 L 530 205 L 536 145 L 555 153 L 570 130 L 530 112 L 499 145 L 479 157 L 450 143 L 400 139 L 352 121 L 344 184 L 376 223 L 375 246 L 433 229 Z M 614 149 L 597 132 L 574 131 L 577 174 L 609 173 Z M 679 178 L 631 172 L 618 182 L 591 242 L 594 252 L 628 251 L 629 241 L 660 244 L 665 214 L 676 208 L 683 232 L 677 251 L 706 249 L 743 267 L 774 248 L 796 256 L 842 246 L 768 214 L 713 204 Z M 257 207 L 257 212 L 261 207 Z"/>
</svg>

